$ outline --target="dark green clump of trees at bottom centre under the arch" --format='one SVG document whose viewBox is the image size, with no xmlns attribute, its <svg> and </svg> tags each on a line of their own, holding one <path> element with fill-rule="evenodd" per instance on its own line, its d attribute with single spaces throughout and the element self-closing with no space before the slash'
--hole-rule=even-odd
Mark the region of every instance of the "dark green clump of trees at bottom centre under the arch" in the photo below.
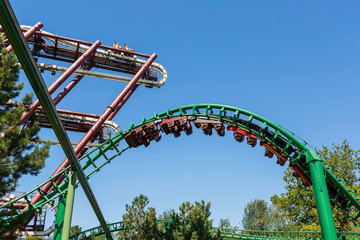
<svg viewBox="0 0 360 240">
<path fill-rule="evenodd" d="M 131 205 L 126 205 L 126 213 L 123 215 L 126 229 L 117 234 L 118 239 L 222 239 L 220 231 L 211 230 L 213 221 L 209 220 L 210 203 L 183 203 L 179 213 L 167 210 L 160 215 L 159 219 L 163 221 L 157 221 L 155 209 L 148 208 L 148 203 L 148 198 L 140 195 L 134 198 Z"/>
</svg>

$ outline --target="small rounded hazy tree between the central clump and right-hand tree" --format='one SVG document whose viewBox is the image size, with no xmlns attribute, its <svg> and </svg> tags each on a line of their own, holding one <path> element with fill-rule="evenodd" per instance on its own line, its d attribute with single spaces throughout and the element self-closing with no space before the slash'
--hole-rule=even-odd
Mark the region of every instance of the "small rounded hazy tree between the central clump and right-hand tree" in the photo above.
<svg viewBox="0 0 360 240">
<path fill-rule="evenodd" d="M 255 199 L 245 206 L 242 219 L 245 230 L 270 230 L 270 221 L 270 208 L 264 200 Z"/>
</svg>

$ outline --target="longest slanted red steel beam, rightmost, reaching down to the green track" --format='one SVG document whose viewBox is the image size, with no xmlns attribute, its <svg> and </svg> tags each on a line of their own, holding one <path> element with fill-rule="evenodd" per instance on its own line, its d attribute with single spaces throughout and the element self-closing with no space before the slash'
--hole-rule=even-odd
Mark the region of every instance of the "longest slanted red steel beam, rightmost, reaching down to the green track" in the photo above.
<svg viewBox="0 0 360 240">
<path fill-rule="evenodd" d="M 96 121 L 96 123 L 91 127 L 91 129 L 85 134 L 85 136 L 80 140 L 78 145 L 74 148 L 75 154 L 84 153 L 85 145 L 93 139 L 93 137 L 97 134 L 102 124 L 108 120 L 111 114 L 116 110 L 119 104 L 124 104 L 124 99 L 128 99 L 130 96 L 126 97 L 129 92 L 136 86 L 137 81 L 141 78 L 141 76 L 145 73 L 145 71 L 150 67 L 150 65 L 155 61 L 157 55 L 154 53 L 150 56 L 150 58 L 145 62 L 145 64 L 141 67 L 141 69 L 134 75 L 131 81 L 124 87 L 124 89 L 120 92 L 120 94 L 115 98 L 115 100 L 111 103 L 110 106 L 107 107 L 105 112 L 101 115 L 101 117 Z M 69 166 L 70 162 L 68 159 L 65 159 L 60 166 L 55 170 L 52 176 L 59 173 L 63 168 Z M 65 177 L 62 175 L 56 181 L 55 184 L 59 185 Z M 52 188 L 51 183 L 45 184 L 41 190 L 43 192 L 48 192 Z M 41 199 L 41 195 L 38 192 L 32 199 L 32 203 L 36 203 Z"/>
</svg>

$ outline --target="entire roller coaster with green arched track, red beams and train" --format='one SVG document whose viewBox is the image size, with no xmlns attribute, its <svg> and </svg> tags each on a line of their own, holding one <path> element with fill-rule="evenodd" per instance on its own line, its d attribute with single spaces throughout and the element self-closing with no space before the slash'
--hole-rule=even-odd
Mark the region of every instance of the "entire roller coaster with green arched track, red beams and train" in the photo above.
<svg viewBox="0 0 360 240">
<path fill-rule="evenodd" d="M 161 87 L 167 79 L 165 68 L 154 62 L 156 54 L 147 55 L 101 45 L 99 41 L 90 43 L 58 36 L 42 31 L 41 23 L 33 27 L 20 27 L 8 2 L 0 1 L 0 3 L 2 31 L 7 37 L 5 47 L 8 52 L 12 50 L 15 52 L 19 64 L 39 98 L 31 105 L 30 110 L 23 114 L 19 124 L 26 127 L 37 121 L 41 127 L 54 129 L 59 141 L 55 140 L 52 143 L 60 144 L 67 156 L 47 181 L 19 197 L 0 199 L 0 211 L 13 213 L 5 219 L 9 232 L 21 228 L 35 235 L 44 235 L 55 229 L 54 239 L 80 239 L 89 234 L 106 234 L 106 237 L 111 239 L 111 231 L 121 231 L 126 226 L 123 223 L 106 224 L 87 180 L 127 150 L 135 150 L 140 146 L 149 147 L 151 142 L 159 142 L 163 139 L 163 135 L 173 135 L 178 138 L 182 134 L 190 135 L 193 130 L 199 129 L 205 135 L 216 132 L 222 137 L 226 133 L 231 133 L 234 140 L 239 143 L 245 141 L 252 148 L 257 145 L 263 147 L 266 157 L 275 157 L 274 162 L 281 166 L 288 162 L 294 171 L 293 175 L 301 178 L 305 186 L 313 186 L 314 189 L 321 233 L 227 230 L 222 232 L 224 237 L 359 238 L 356 233 L 336 233 L 331 212 L 331 207 L 336 207 L 346 212 L 349 219 L 357 224 L 360 202 L 355 196 L 355 191 L 347 189 L 344 181 L 332 174 L 331 168 L 324 167 L 316 151 L 294 133 L 255 113 L 219 104 L 194 104 L 168 109 L 162 113 L 155 113 L 149 118 L 142 118 L 138 124 L 131 124 L 129 129 L 122 131 L 112 119 L 137 87 L 139 85 L 150 88 Z M 71 66 L 39 63 L 39 59 L 65 62 Z M 93 71 L 94 68 L 101 69 L 101 72 Z M 62 73 L 47 91 L 40 74 L 43 71 Z M 50 94 L 54 93 L 72 74 L 76 77 L 51 100 Z M 158 75 L 161 75 L 160 80 Z M 101 116 L 55 110 L 55 105 L 84 76 L 126 82 L 127 85 Z M 85 136 L 79 142 L 70 143 L 66 131 L 85 133 Z M 111 132 L 114 132 L 115 136 L 111 136 Z M 74 149 L 71 144 L 75 145 Z M 73 193 L 79 184 L 84 189 L 101 226 L 70 237 Z M 34 217 L 40 219 L 45 206 L 56 211 L 55 228 L 52 227 L 50 230 L 37 228 L 35 221 L 32 229 L 25 229 L 24 226 Z"/>
</svg>

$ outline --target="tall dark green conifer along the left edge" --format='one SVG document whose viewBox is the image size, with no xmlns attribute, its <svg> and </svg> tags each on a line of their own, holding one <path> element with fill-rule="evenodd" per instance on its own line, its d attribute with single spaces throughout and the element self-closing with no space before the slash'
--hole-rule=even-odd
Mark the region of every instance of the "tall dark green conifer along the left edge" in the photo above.
<svg viewBox="0 0 360 240">
<path fill-rule="evenodd" d="M 37 123 L 20 129 L 16 126 L 31 102 L 31 94 L 17 101 L 24 84 L 18 84 L 19 66 L 14 53 L 3 48 L 4 38 L 0 38 L 0 197 L 14 191 L 18 179 L 24 174 L 37 175 L 49 156 L 49 146 L 39 147 L 33 142 L 38 138 L 40 128 Z M 12 127 L 16 126 L 16 127 Z M 0 212 L 0 236 L 11 231 L 4 226 L 6 216 L 14 210 Z M 17 222 L 21 220 L 17 219 Z M 15 222 L 10 224 L 17 227 Z"/>
</svg>

